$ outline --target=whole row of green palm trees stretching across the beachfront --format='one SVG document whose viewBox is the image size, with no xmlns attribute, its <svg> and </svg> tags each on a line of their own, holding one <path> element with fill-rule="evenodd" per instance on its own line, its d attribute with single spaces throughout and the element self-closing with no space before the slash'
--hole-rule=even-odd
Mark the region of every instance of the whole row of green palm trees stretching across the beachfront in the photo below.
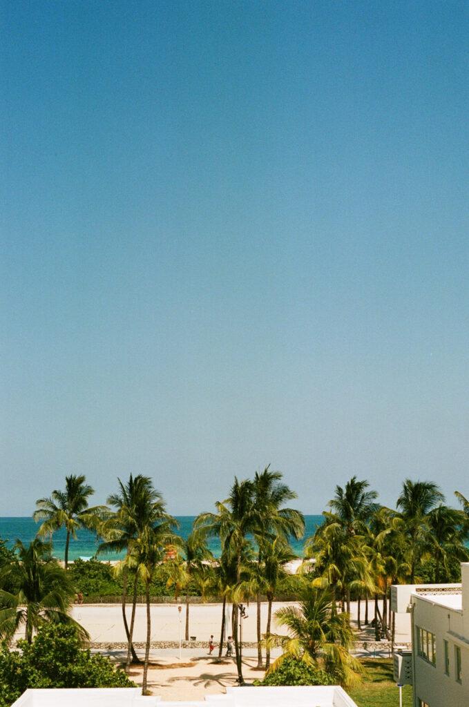
<svg viewBox="0 0 469 707">
<path fill-rule="evenodd" d="M 446 506 L 436 484 L 407 479 L 396 508 L 378 504 L 378 494 L 368 481 L 352 477 L 323 513 L 324 521 L 304 544 L 303 572 L 292 575 L 289 563 L 296 558 L 290 540 L 303 537 L 305 522 L 289 502 L 296 494 L 286 486 L 280 472 L 266 467 L 253 479 L 236 477 L 224 501 L 215 511 L 195 519 L 189 537 L 176 534 L 178 523 L 166 512 L 161 493 L 149 477 L 132 474 L 127 482 L 117 479 L 117 492 L 108 506 L 88 506 L 93 494 L 83 476 L 66 477 L 64 491 L 40 498 L 33 514 L 40 521 L 37 538 L 30 547 L 16 544 L 16 556 L 0 572 L 0 638 L 11 638 L 21 624 L 30 641 L 43 621 L 70 621 L 69 607 L 74 588 L 66 570 L 52 558 L 51 544 L 43 542 L 66 528 L 65 568 L 69 541 L 76 531 L 87 528 L 99 541 L 97 554 L 125 553 L 115 568 L 122 575 L 122 619 L 128 641 L 126 671 L 137 662 L 133 646 L 137 586 L 144 584 L 146 597 L 146 650 L 144 692 L 151 638 L 151 580 L 165 571 L 167 587 L 175 597 L 185 597 L 185 638 L 190 634 L 190 596 L 222 598 L 219 656 L 226 640 L 234 639 L 238 682 L 243 684 L 240 621 L 243 602 L 255 601 L 257 610 L 257 664 L 275 669 L 284 657 L 294 656 L 342 682 L 359 670 L 350 657 L 353 633 L 349 624 L 352 599 L 365 604 L 364 622 L 369 621 L 369 602 L 374 602 L 376 638 L 378 626 L 393 638 L 390 587 L 395 583 L 417 583 L 432 568 L 431 580 L 446 581 L 456 563 L 469 559 L 469 501 L 456 492 L 462 510 Z M 209 551 L 209 539 L 219 540 L 221 556 Z M 129 591 L 130 588 L 130 591 Z M 289 592 L 299 600 L 275 618 L 286 626 L 287 636 L 272 632 L 272 602 Z M 132 608 L 127 614 L 129 593 Z M 262 624 L 261 599 L 267 599 L 267 617 Z M 380 603 L 381 608 L 380 608 Z M 231 625 L 226 607 L 231 604 Z M 341 607 L 342 611 L 338 611 Z M 347 609 L 347 611 L 346 611 Z M 271 666 L 272 645 L 283 653 Z M 262 648 L 265 648 L 265 664 Z"/>
</svg>

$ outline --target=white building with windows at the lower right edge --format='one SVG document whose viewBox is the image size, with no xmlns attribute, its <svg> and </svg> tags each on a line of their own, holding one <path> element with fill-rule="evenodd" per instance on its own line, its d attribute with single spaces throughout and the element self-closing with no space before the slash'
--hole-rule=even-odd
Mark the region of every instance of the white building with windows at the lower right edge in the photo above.
<svg viewBox="0 0 469 707">
<path fill-rule="evenodd" d="M 461 579 L 392 588 L 391 608 L 411 617 L 412 654 L 396 656 L 395 677 L 412 680 L 414 707 L 469 706 L 469 563 Z"/>
</svg>

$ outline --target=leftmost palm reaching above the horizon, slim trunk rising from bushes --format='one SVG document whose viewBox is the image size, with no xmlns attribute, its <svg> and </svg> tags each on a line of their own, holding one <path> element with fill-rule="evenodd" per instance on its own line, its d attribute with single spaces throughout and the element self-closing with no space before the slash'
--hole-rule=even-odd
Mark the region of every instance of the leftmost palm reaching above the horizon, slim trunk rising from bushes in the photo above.
<svg viewBox="0 0 469 707">
<path fill-rule="evenodd" d="M 51 535 L 62 525 L 66 528 L 65 569 L 69 564 L 70 536 L 76 539 L 80 528 L 95 530 L 100 522 L 100 515 L 105 513 L 105 506 L 88 507 L 88 498 L 94 491 L 85 483 L 86 477 L 71 474 L 65 477 L 65 491 L 52 491 L 50 498 L 39 498 L 37 510 L 33 513 L 35 522 L 42 521 L 37 535 L 40 538 Z"/>
</svg>

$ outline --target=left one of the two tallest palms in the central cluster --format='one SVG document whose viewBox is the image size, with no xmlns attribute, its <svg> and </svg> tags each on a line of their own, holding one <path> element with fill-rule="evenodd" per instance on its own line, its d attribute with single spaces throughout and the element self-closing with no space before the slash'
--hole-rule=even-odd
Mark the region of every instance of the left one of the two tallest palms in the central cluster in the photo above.
<svg viewBox="0 0 469 707">
<path fill-rule="evenodd" d="M 219 537 L 221 550 L 233 557 L 236 568 L 236 583 L 241 582 L 243 550 L 249 541 L 246 536 L 260 527 L 260 513 L 254 503 L 253 481 L 234 480 L 226 501 L 216 501 L 216 513 L 201 513 L 194 521 L 195 532 L 205 537 Z M 235 643 L 238 682 L 244 684 L 243 667 L 238 641 L 237 597 L 233 597 L 233 638 Z"/>
</svg>

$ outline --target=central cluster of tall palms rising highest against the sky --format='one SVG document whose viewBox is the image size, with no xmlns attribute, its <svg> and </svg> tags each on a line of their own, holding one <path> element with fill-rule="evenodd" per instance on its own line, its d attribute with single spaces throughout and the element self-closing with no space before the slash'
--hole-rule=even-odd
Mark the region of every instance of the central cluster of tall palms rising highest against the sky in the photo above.
<svg viewBox="0 0 469 707">
<path fill-rule="evenodd" d="M 258 667 L 262 667 L 260 597 L 262 593 L 267 595 L 265 633 L 269 634 L 275 594 L 291 581 L 286 565 L 295 556 L 289 547 L 289 538 L 302 537 L 305 527 L 303 514 L 284 506 L 294 498 L 296 493 L 282 482 L 282 474 L 266 467 L 263 472 L 256 472 L 252 480 L 238 481 L 235 477 L 226 501 L 215 503 L 216 513 L 201 513 L 194 522 L 197 539 L 217 537 L 220 542 L 219 582 L 224 597 L 231 601 L 231 635 L 239 684 L 244 682 L 238 638 L 238 624 L 243 620 L 241 602 L 256 598 L 257 662 Z M 222 628 L 220 645 L 223 638 Z M 267 649 L 267 667 L 269 663 Z"/>
</svg>

